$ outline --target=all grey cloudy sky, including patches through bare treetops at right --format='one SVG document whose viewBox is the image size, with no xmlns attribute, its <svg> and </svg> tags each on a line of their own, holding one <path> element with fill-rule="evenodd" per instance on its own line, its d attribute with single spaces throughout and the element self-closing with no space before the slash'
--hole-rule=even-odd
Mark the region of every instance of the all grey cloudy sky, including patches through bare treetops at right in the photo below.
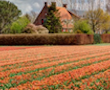
<svg viewBox="0 0 110 90">
<path fill-rule="evenodd" d="M 25 13 L 29 13 L 30 11 L 35 11 L 36 13 L 39 13 L 41 11 L 41 9 L 44 6 L 44 2 L 47 0 L 7 0 L 10 2 L 13 2 L 16 6 L 18 6 L 18 8 L 22 11 L 23 14 Z M 49 1 L 57 1 L 60 2 L 60 0 L 49 0 Z M 68 3 L 70 0 L 63 0 L 63 2 Z M 74 1 L 74 0 L 72 0 Z M 76 0 L 76 1 L 81 1 L 81 0 Z M 85 0 L 87 2 L 87 0 Z M 88 0 L 89 1 L 89 0 Z M 98 1 L 98 0 L 96 0 Z M 101 0 L 101 1 L 106 1 L 106 0 Z M 69 3 L 68 3 L 69 4 Z M 79 4 L 79 5 L 78 5 Z M 75 6 L 75 5 L 73 5 Z M 84 7 L 84 5 L 82 5 Z M 96 5 L 97 6 L 97 5 Z M 77 5 L 75 6 L 75 8 L 81 8 L 80 2 L 77 2 Z M 86 8 L 87 5 L 85 4 Z M 102 2 L 102 7 L 105 7 L 104 2 Z"/>
</svg>

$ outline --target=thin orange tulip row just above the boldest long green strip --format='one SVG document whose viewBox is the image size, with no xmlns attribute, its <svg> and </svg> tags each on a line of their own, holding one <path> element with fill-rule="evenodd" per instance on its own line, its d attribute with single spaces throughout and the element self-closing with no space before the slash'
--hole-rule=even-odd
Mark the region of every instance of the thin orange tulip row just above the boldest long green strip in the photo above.
<svg viewBox="0 0 110 90">
<path fill-rule="evenodd" d="M 106 59 L 107 56 L 108 56 L 108 58 L 110 58 L 109 53 L 105 53 L 104 55 L 105 56 L 104 57 L 102 56 L 102 59 Z M 83 59 L 80 58 L 80 59 L 85 60 L 85 62 L 86 62 L 87 58 L 88 57 L 85 57 Z M 94 61 L 94 58 L 95 57 L 93 57 L 92 59 L 89 59 L 88 61 L 92 61 L 92 60 Z M 56 62 L 48 62 L 48 63 L 45 63 L 45 65 L 43 63 L 41 63 L 41 64 L 34 65 L 34 66 L 28 66 L 28 67 L 23 67 L 23 68 L 11 69 L 11 70 L 8 70 L 8 71 L 0 72 L 0 74 L 1 74 L 0 78 L 1 77 L 8 77 L 8 76 L 10 76 L 10 73 L 11 73 L 11 76 L 13 76 L 13 75 L 19 75 L 20 72 L 26 73 L 26 72 L 29 72 L 29 71 L 32 71 L 32 70 L 33 71 L 38 71 L 39 69 L 42 69 L 42 68 L 45 69 L 45 68 L 50 68 L 50 67 L 53 67 L 53 66 L 55 67 L 55 66 L 58 66 L 58 65 L 69 64 L 69 63 L 72 63 L 72 62 L 73 63 L 74 62 L 80 62 L 81 61 L 80 59 L 79 58 L 76 58 L 76 59 L 66 59 L 66 60 L 60 60 L 60 61 L 56 61 Z M 100 60 L 101 57 L 97 57 L 96 59 Z"/>
</svg>

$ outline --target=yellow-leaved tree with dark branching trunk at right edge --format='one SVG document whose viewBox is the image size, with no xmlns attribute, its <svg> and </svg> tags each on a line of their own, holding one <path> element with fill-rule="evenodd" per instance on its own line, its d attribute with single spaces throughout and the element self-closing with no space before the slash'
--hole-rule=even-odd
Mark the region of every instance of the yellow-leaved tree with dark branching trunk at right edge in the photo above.
<svg viewBox="0 0 110 90">
<path fill-rule="evenodd" d="M 86 19 L 89 21 L 94 32 L 109 28 L 110 15 L 100 8 L 87 11 Z"/>
</svg>

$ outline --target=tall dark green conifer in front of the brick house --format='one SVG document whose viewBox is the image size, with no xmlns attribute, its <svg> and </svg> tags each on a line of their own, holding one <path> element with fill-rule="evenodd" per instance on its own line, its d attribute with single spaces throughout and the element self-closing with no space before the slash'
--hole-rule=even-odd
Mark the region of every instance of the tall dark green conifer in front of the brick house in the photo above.
<svg viewBox="0 0 110 90">
<path fill-rule="evenodd" d="M 48 9 L 48 14 L 44 26 L 49 30 L 49 33 L 59 33 L 62 30 L 59 12 L 56 6 L 52 4 Z"/>
</svg>

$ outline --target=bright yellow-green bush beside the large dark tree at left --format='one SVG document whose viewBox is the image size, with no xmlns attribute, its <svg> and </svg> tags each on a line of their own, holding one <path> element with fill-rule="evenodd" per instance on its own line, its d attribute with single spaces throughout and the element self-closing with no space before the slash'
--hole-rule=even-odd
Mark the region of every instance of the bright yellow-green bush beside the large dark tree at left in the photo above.
<svg viewBox="0 0 110 90">
<path fill-rule="evenodd" d="M 10 33 L 22 33 L 24 28 L 29 24 L 30 21 L 25 17 L 20 17 L 17 21 L 15 21 L 11 26 Z"/>
</svg>

